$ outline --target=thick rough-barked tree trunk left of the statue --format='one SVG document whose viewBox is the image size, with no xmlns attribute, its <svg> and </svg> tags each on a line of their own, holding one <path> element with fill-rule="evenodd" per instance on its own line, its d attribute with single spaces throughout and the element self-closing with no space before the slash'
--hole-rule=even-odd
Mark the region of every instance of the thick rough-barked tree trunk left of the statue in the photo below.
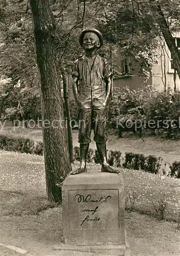
<svg viewBox="0 0 180 256">
<path fill-rule="evenodd" d="M 61 201 L 61 183 L 71 171 L 54 46 L 55 25 L 48 0 L 30 0 L 40 73 L 42 132 L 48 199 Z"/>
</svg>

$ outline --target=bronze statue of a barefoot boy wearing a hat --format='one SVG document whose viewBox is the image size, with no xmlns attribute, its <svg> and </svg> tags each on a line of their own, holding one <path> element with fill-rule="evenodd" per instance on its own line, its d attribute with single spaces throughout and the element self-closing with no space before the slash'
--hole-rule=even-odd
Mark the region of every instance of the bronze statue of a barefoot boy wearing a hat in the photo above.
<svg viewBox="0 0 180 256">
<path fill-rule="evenodd" d="M 105 58 L 97 54 L 103 45 L 102 34 L 96 29 L 84 29 L 79 37 L 85 55 L 75 61 L 73 92 L 79 108 L 80 167 L 71 174 L 87 172 L 86 156 L 91 142 L 92 122 L 94 140 L 101 160 L 102 172 L 119 173 L 107 164 L 106 114 L 111 91 L 111 72 Z"/>
</svg>

